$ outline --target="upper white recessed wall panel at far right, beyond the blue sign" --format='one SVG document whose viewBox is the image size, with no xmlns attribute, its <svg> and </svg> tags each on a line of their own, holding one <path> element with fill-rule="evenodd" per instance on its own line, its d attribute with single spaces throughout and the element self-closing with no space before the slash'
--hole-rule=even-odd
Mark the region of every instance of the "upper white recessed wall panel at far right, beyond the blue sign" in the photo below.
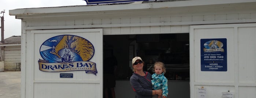
<svg viewBox="0 0 256 98">
<path fill-rule="evenodd" d="M 239 82 L 256 83 L 256 27 L 238 28 Z"/>
</svg>

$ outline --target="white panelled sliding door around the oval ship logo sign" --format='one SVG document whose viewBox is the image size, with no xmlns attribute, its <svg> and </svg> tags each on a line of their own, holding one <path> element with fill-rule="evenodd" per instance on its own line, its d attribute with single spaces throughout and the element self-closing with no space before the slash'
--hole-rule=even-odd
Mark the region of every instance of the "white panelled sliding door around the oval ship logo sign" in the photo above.
<svg viewBox="0 0 256 98">
<path fill-rule="evenodd" d="M 25 98 L 71 98 L 90 97 L 102 98 L 103 95 L 103 34 L 102 29 L 76 30 L 39 30 L 27 31 L 26 37 L 26 67 L 25 68 Z M 94 46 L 94 55 L 90 61 L 97 64 L 97 75 L 85 71 L 44 72 L 39 70 L 38 60 L 40 47 L 47 39 L 57 35 L 77 35 L 90 41 Z M 24 56 L 24 55 L 23 55 Z M 43 60 L 43 59 L 42 59 Z M 73 78 L 60 78 L 60 73 L 73 73 Z M 88 89 L 88 87 L 90 89 Z M 67 89 L 68 88 L 68 89 Z"/>
</svg>

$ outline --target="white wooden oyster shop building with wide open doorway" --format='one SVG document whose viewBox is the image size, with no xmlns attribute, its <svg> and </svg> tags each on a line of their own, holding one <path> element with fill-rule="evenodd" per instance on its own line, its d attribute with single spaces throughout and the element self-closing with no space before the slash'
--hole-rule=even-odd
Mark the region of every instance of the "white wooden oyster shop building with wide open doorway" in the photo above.
<svg viewBox="0 0 256 98">
<path fill-rule="evenodd" d="M 256 98 L 255 5 L 255 0 L 186 0 L 10 10 L 10 15 L 22 20 L 21 97 L 103 98 L 103 39 L 112 36 L 111 41 L 119 43 L 112 47 L 122 71 L 118 74 L 126 75 L 130 72 L 129 56 L 147 56 L 139 50 L 138 42 L 124 39 L 132 40 L 139 34 L 188 34 L 178 39 L 189 41 L 190 77 L 188 81 L 170 80 L 168 98 L 221 98 L 228 91 L 234 98 Z M 97 64 L 96 75 L 39 70 L 42 43 L 59 35 L 81 36 L 92 42 L 95 54 L 90 61 Z M 221 38 L 225 39 L 226 70 L 205 71 L 202 61 L 207 59 L 201 56 L 201 39 Z M 129 51 L 129 45 L 135 50 Z M 74 77 L 60 78 L 62 73 Z M 134 98 L 129 76 L 127 79 L 116 80 L 116 98 Z"/>
</svg>

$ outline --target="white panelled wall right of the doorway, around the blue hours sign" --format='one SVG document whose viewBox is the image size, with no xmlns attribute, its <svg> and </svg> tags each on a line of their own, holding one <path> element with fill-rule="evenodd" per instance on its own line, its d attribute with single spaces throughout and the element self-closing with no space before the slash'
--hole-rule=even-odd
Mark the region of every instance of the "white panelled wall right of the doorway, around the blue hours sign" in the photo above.
<svg viewBox="0 0 256 98">
<path fill-rule="evenodd" d="M 227 39 L 227 71 L 201 71 L 200 39 Z M 205 98 L 220 98 L 230 91 L 234 98 L 255 98 L 256 24 L 190 26 L 190 98 L 204 87 Z"/>
</svg>

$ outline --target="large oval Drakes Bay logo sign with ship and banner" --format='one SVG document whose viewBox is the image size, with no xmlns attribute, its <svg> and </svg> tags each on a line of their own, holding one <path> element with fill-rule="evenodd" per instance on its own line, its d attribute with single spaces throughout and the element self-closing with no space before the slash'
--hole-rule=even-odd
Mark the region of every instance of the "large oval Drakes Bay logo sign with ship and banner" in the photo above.
<svg viewBox="0 0 256 98">
<path fill-rule="evenodd" d="M 96 63 L 89 60 L 94 47 L 85 38 L 59 35 L 47 39 L 40 47 L 39 70 L 45 72 L 82 71 L 96 75 Z"/>
</svg>

